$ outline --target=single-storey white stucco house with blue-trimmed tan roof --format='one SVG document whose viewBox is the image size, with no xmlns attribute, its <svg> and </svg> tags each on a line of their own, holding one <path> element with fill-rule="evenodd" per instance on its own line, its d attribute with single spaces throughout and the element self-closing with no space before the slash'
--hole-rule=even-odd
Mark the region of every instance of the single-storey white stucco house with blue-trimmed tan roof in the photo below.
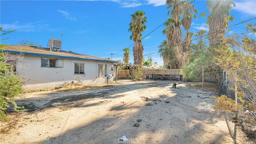
<svg viewBox="0 0 256 144">
<path fill-rule="evenodd" d="M 52 89 L 79 79 L 84 85 L 106 83 L 106 74 L 114 75 L 116 61 L 35 46 L 7 46 L 5 52 L 22 54 L 16 73 L 23 77 L 25 90 Z"/>
</svg>

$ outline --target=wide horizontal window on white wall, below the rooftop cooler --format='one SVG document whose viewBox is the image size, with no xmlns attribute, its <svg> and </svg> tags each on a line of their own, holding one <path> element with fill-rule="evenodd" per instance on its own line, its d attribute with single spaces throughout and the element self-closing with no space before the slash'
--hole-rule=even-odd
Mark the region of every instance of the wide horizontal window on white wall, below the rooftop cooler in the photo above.
<svg viewBox="0 0 256 144">
<path fill-rule="evenodd" d="M 41 67 L 46 68 L 63 68 L 63 60 L 41 58 Z"/>
</svg>

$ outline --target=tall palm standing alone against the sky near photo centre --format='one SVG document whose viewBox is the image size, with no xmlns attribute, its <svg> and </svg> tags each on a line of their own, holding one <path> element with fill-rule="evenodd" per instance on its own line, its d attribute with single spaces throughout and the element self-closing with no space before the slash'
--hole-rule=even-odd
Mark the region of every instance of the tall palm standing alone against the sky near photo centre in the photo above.
<svg viewBox="0 0 256 144">
<path fill-rule="evenodd" d="M 130 23 L 129 31 L 131 31 L 130 39 L 133 40 L 133 57 L 134 64 L 143 66 L 143 45 L 141 42 L 142 32 L 146 30 L 145 23 L 147 22 L 147 18 L 145 17 L 145 12 L 136 11 L 132 16 L 132 21 Z"/>
</svg>

